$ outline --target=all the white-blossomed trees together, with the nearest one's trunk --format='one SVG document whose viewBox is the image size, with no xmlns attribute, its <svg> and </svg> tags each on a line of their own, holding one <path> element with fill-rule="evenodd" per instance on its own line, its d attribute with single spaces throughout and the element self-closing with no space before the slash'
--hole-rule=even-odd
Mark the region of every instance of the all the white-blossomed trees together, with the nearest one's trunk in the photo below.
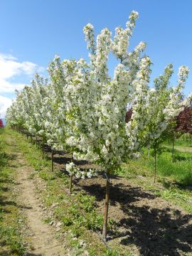
<svg viewBox="0 0 192 256">
<path fill-rule="evenodd" d="M 51 149 L 68 151 L 73 159 L 87 159 L 105 171 L 104 240 L 110 174 L 139 157 L 142 148 L 158 149 L 175 117 L 191 102 L 191 96 L 183 97 L 186 66 L 179 68 L 176 86 L 169 85 L 174 72 L 171 64 L 149 86 L 152 63 L 144 54 L 146 43 L 128 50 L 137 18 L 138 13 L 132 11 L 126 28 L 117 27 L 114 37 L 104 28 L 95 38 L 94 27 L 88 23 L 83 31 L 90 60 L 60 60 L 56 56 L 48 65 L 49 78 L 36 74 L 31 86 L 16 92 L 6 114 L 8 124 L 42 137 Z M 107 68 L 111 54 L 119 62 L 113 77 Z M 131 112 L 128 122 L 127 111 Z M 71 177 L 80 178 L 73 161 L 66 169 Z"/>
</svg>

